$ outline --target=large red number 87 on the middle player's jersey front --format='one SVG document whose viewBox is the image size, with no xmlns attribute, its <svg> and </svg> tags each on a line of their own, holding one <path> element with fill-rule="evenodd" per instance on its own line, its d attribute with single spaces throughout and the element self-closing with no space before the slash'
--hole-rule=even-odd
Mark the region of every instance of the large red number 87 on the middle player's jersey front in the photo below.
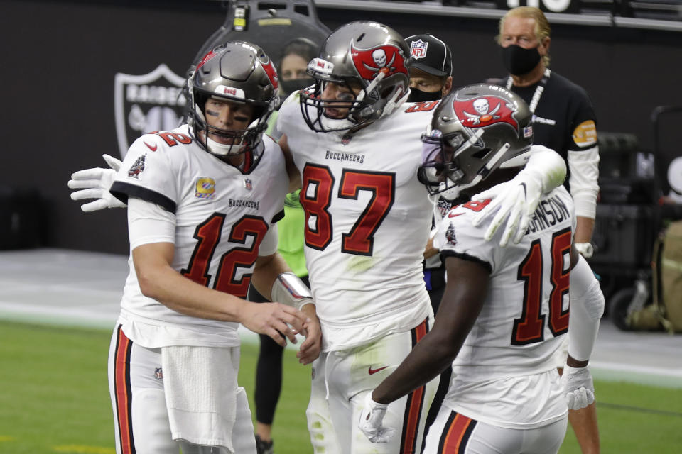
<svg viewBox="0 0 682 454">
<path fill-rule="evenodd" d="M 305 165 L 301 205 L 305 211 L 305 244 L 310 248 L 324 250 L 332 240 L 332 216 L 328 209 L 334 182 L 328 167 Z M 361 191 L 372 192 L 372 198 L 350 232 L 342 233 L 342 252 L 372 255 L 374 233 L 393 206 L 395 190 L 393 173 L 343 170 L 338 198 L 357 200 Z"/>
</svg>

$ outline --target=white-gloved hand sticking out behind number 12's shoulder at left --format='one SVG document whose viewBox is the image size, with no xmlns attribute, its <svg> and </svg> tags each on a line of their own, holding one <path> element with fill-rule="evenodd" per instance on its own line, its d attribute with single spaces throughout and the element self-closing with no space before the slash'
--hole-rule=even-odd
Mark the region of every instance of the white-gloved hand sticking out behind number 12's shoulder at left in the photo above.
<svg viewBox="0 0 682 454">
<path fill-rule="evenodd" d="M 112 196 L 109 188 L 112 187 L 116 173 L 121 167 L 121 161 L 117 158 L 102 155 L 111 169 L 84 169 L 71 174 L 69 187 L 80 189 L 71 193 L 72 200 L 97 199 L 87 204 L 82 204 L 80 209 L 86 213 L 105 208 L 125 208 L 126 204 Z"/>
</svg>

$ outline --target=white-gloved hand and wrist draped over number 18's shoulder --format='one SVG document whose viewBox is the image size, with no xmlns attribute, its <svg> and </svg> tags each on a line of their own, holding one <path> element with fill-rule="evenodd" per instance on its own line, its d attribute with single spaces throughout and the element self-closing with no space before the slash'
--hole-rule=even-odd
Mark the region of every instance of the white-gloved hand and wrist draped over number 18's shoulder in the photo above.
<svg viewBox="0 0 682 454">
<path fill-rule="evenodd" d="M 493 199 L 488 209 L 473 219 L 474 225 L 478 226 L 486 216 L 495 213 L 485 232 L 486 240 L 490 240 L 507 221 L 499 241 L 503 247 L 510 239 L 519 243 L 542 194 L 563 184 L 566 177 L 566 163 L 558 153 L 543 145 L 532 145 L 531 150 L 534 154 L 514 179 L 472 196 L 472 200 Z"/>
</svg>

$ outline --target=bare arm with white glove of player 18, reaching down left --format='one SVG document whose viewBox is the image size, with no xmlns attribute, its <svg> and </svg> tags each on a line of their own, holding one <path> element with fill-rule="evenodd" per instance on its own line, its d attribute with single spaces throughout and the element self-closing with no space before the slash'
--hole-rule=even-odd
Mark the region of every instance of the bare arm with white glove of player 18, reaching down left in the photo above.
<svg viewBox="0 0 682 454">
<path fill-rule="evenodd" d="M 433 329 L 365 399 L 359 428 L 373 443 L 386 443 L 390 438 L 391 431 L 382 425 L 385 406 L 450 367 L 483 307 L 489 283 L 487 268 L 455 257 L 448 257 L 445 267 L 448 284 Z"/>
</svg>

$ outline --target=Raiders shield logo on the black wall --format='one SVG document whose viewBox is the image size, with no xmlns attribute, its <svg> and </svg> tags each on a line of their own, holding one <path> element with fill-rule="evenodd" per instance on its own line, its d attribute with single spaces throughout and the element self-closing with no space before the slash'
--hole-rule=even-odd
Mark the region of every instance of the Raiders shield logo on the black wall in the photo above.
<svg viewBox="0 0 682 454">
<path fill-rule="evenodd" d="M 116 74 L 114 117 L 121 158 L 140 135 L 180 126 L 187 102 L 182 94 L 184 84 L 185 78 L 163 63 L 141 76 Z"/>
</svg>

